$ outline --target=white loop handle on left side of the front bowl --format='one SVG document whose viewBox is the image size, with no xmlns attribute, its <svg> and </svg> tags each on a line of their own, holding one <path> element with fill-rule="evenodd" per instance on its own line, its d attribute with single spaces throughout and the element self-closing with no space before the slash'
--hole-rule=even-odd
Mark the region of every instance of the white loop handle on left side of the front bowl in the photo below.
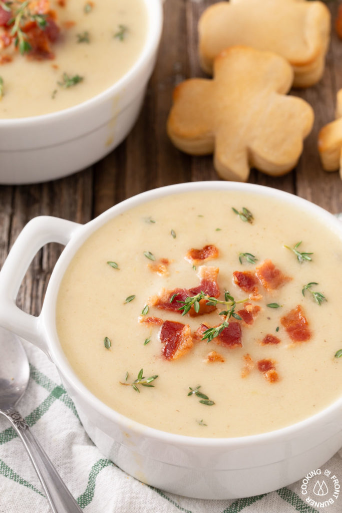
<svg viewBox="0 0 342 513">
<path fill-rule="evenodd" d="M 19 233 L 0 271 L 0 324 L 48 353 L 41 316 L 25 313 L 15 304 L 19 287 L 35 254 L 45 244 L 66 245 L 82 225 L 42 215 Z"/>
</svg>

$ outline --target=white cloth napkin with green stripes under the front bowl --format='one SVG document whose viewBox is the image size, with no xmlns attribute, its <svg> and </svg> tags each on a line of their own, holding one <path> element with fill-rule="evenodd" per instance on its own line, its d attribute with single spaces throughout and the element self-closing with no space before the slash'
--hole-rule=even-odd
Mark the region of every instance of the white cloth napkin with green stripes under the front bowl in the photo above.
<svg viewBox="0 0 342 513">
<path fill-rule="evenodd" d="M 324 508 L 308 504 L 301 481 L 270 494 L 226 501 L 188 499 L 136 481 L 89 440 L 54 365 L 42 351 L 24 345 L 31 378 L 18 409 L 86 513 L 341 513 L 342 497 Z M 342 483 L 342 450 L 321 472 L 320 485 L 333 475 Z M 330 496 L 329 492 L 316 498 L 319 502 Z M 0 513 L 24 512 L 49 513 L 50 509 L 22 443 L 6 419 L 0 418 Z"/>
</svg>

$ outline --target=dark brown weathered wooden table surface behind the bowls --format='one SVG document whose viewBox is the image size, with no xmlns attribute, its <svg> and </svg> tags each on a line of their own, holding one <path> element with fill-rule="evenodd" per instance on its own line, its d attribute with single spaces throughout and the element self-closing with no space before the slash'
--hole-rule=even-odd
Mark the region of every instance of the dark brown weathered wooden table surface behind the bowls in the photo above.
<svg viewBox="0 0 342 513">
<path fill-rule="evenodd" d="M 54 182 L 0 186 L 0 266 L 25 224 L 36 215 L 54 215 L 86 223 L 115 203 L 145 190 L 169 184 L 217 180 L 212 157 L 191 157 L 176 150 L 165 124 L 173 87 L 185 78 L 205 76 L 197 56 L 197 21 L 210 0 L 167 0 L 163 38 L 142 113 L 125 142 L 102 161 Z M 336 18 L 338 2 L 327 5 Z M 249 182 L 292 192 L 327 210 L 342 211 L 342 181 L 326 173 L 317 152 L 317 133 L 334 119 L 336 91 L 342 88 L 342 41 L 334 28 L 323 79 L 314 87 L 293 90 L 315 111 L 315 124 L 305 141 L 298 166 L 272 178 L 252 170 Z M 1 163 L 0 163 L 1 165 Z M 27 272 L 17 304 L 38 314 L 53 266 L 62 247 L 49 244 Z"/>
</svg>

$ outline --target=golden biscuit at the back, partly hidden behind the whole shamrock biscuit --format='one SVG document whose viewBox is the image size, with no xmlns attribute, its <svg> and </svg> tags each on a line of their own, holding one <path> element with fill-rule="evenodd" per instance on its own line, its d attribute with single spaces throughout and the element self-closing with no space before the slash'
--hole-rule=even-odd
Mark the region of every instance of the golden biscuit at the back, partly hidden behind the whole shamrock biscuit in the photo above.
<svg viewBox="0 0 342 513">
<path fill-rule="evenodd" d="M 294 86 L 308 87 L 324 72 L 330 13 L 322 2 L 306 0 L 230 0 L 204 11 L 199 54 L 211 73 L 214 58 L 234 45 L 282 55 L 294 70 Z"/>
</svg>

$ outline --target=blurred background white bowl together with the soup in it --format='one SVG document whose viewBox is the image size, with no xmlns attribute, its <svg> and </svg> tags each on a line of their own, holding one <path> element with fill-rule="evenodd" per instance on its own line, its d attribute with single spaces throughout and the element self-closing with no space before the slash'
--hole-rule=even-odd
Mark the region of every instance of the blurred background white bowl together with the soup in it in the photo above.
<svg viewBox="0 0 342 513">
<path fill-rule="evenodd" d="M 34 58 L 25 27 L 38 22 L 27 14 L 28 56 L 13 50 L 16 38 L 1 49 L 12 60 L 0 69 L 0 183 L 48 181 L 90 166 L 123 141 L 142 106 L 162 31 L 161 0 L 64 4 L 51 2 L 47 16 L 57 18 L 41 20 L 43 35 L 52 23 L 59 29 L 47 54 L 43 46 L 53 58 Z"/>
</svg>

